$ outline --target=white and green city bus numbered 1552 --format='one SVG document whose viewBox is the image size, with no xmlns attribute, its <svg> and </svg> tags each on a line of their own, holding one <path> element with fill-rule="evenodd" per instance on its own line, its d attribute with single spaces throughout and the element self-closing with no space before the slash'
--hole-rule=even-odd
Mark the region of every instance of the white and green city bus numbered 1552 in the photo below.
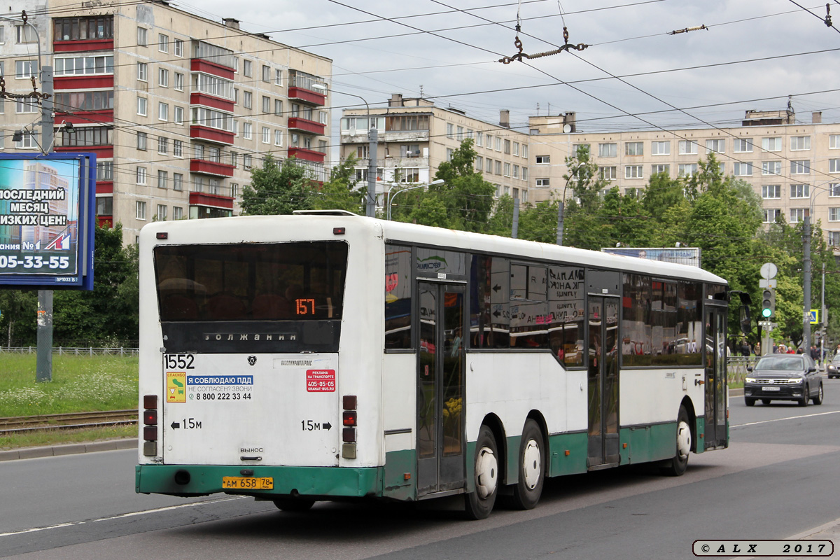
<svg viewBox="0 0 840 560">
<path fill-rule="evenodd" d="M 727 283 L 349 212 L 140 234 L 141 493 L 499 494 L 727 447 Z"/>
</svg>

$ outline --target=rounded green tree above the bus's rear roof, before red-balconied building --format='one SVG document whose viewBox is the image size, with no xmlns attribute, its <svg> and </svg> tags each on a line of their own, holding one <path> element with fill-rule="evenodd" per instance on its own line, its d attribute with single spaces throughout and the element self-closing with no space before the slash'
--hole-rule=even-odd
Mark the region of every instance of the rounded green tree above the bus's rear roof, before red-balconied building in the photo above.
<svg viewBox="0 0 840 560">
<path fill-rule="evenodd" d="M 294 158 L 281 163 L 266 154 L 263 165 L 251 170 L 251 184 L 242 190 L 242 213 L 265 216 L 311 210 L 312 182 L 307 168 Z"/>
</svg>

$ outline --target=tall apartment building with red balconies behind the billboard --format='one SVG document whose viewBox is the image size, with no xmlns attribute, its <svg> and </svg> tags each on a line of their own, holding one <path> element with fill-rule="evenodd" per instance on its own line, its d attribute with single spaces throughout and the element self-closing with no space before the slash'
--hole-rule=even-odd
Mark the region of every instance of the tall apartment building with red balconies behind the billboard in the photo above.
<svg viewBox="0 0 840 560">
<path fill-rule="evenodd" d="M 122 222 L 125 243 L 151 220 L 238 214 L 265 154 L 323 178 L 332 60 L 162 0 L 18 1 L 7 17 L 24 9 L 37 33 L 0 19 L 6 90 L 32 91 L 40 39 L 40 64 L 55 75 L 52 149 L 97 154 L 97 219 Z M 39 105 L 0 110 L 2 149 L 41 149 Z"/>
</svg>

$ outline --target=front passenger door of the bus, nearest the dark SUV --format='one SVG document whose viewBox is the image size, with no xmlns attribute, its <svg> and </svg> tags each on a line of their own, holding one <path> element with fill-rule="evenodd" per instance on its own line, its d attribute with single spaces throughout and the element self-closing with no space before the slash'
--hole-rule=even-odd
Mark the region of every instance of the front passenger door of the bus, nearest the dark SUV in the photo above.
<svg viewBox="0 0 840 560">
<path fill-rule="evenodd" d="M 706 449 L 727 445 L 727 314 L 706 307 Z"/>
</svg>

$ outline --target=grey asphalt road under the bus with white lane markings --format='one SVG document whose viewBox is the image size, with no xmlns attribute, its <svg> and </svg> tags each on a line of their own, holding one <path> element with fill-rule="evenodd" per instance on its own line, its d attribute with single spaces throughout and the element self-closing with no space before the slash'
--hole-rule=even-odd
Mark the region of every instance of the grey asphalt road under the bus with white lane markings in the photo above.
<svg viewBox="0 0 840 560">
<path fill-rule="evenodd" d="M 696 539 L 779 539 L 840 516 L 840 380 L 822 406 L 730 403 L 732 446 L 679 478 L 620 468 L 546 484 L 537 509 L 460 521 L 458 500 L 317 504 L 134 494 L 133 451 L 0 463 L 0 557 L 694 558 Z M 840 544 L 840 542 L 838 542 Z"/>
</svg>

